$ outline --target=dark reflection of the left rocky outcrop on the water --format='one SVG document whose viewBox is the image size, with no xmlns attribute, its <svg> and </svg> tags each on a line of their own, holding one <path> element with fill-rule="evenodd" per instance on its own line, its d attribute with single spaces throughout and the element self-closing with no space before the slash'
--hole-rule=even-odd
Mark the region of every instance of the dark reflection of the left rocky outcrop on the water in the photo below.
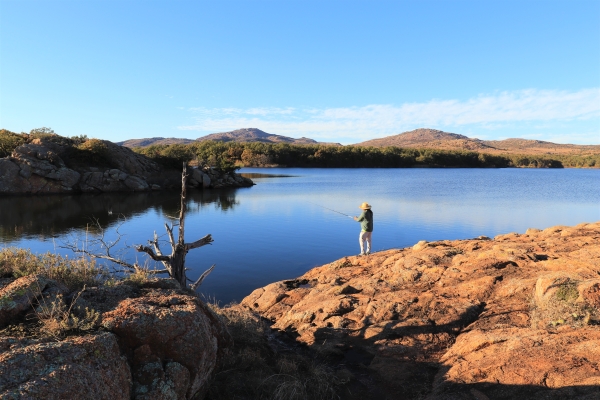
<svg viewBox="0 0 600 400">
<path fill-rule="evenodd" d="M 244 189 L 190 190 L 188 209 L 214 204 L 222 212 L 231 211 L 239 205 L 237 190 Z M 179 207 L 178 192 L 0 197 L 0 242 L 28 237 L 45 240 L 95 221 L 112 227 L 123 218 L 148 211 L 176 218 Z"/>
</svg>

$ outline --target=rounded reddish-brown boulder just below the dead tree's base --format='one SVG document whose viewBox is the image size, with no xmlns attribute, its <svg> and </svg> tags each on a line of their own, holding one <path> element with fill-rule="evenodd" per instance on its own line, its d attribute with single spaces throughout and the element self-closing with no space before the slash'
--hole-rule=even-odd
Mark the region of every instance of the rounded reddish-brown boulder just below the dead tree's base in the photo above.
<svg viewBox="0 0 600 400">
<path fill-rule="evenodd" d="M 103 326 L 130 349 L 134 391 L 144 399 L 201 393 L 230 345 L 226 328 L 197 297 L 168 290 L 122 301 L 103 315 Z"/>
</svg>

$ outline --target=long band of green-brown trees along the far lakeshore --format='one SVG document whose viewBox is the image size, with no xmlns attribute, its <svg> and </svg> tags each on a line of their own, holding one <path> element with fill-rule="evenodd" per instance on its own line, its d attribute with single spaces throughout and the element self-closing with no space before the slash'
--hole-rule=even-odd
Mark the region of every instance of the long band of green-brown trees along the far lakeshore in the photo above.
<svg viewBox="0 0 600 400">
<path fill-rule="evenodd" d="M 134 148 L 163 164 L 198 162 L 220 169 L 239 167 L 301 168 L 582 168 L 600 167 L 595 155 L 489 154 L 475 151 L 400 147 L 293 145 L 203 141 Z"/>
</svg>

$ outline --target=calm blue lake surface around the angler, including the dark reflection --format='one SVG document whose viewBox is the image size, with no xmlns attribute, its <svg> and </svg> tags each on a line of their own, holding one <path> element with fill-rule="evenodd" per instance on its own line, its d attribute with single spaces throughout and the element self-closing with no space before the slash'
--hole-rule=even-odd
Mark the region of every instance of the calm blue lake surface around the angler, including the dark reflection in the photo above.
<svg viewBox="0 0 600 400">
<path fill-rule="evenodd" d="M 215 263 L 201 292 L 221 303 L 257 287 L 359 252 L 360 226 L 327 210 L 358 215 L 373 206 L 375 251 L 419 240 L 493 237 L 527 228 L 600 220 L 600 170 L 576 169 L 244 169 L 256 186 L 189 195 L 186 238 L 212 246 L 188 253 L 188 275 Z M 261 177 L 260 174 L 276 176 Z M 122 221 L 124 244 L 146 243 L 176 216 L 178 193 L 0 197 L 0 246 L 57 251 L 85 245 L 90 218 Z M 112 210 L 112 215 L 108 211 Z M 166 237 L 163 236 L 166 240 Z M 163 249 L 168 248 L 167 243 Z M 124 258 L 144 261 L 125 248 Z"/>
</svg>

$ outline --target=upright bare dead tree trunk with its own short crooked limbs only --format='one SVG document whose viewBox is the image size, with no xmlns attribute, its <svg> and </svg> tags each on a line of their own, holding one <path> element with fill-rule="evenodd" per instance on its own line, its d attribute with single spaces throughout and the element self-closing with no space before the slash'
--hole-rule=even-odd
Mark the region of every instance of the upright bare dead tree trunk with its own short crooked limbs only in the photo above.
<svg viewBox="0 0 600 400">
<path fill-rule="evenodd" d="M 149 246 L 136 246 L 135 249 L 140 252 L 144 252 L 150 256 L 154 261 L 160 261 L 164 266 L 166 272 L 175 279 L 182 287 L 187 286 L 188 279 L 186 277 L 185 271 L 185 256 L 187 252 L 196 249 L 198 247 L 205 246 L 207 244 L 211 244 L 213 239 L 210 233 L 204 236 L 201 239 L 196 240 L 192 243 L 185 243 L 184 233 L 185 233 L 185 211 L 186 211 L 186 183 L 187 183 L 187 174 L 186 174 L 186 165 L 183 164 L 183 173 L 181 174 L 181 210 L 179 211 L 179 229 L 178 229 L 178 237 L 177 242 L 175 242 L 175 237 L 173 236 L 173 225 L 169 226 L 169 224 L 165 223 L 165 229 L 167 230 L 167 235 L 169 236 L 169 242 L 171 244 L 171 254 L 165 255 L 161 251 L 158 244 L 158 235 L 156 231 L 154 232 L 154 240 L 149 240 Z M 208 270 L 206 270 L 198 280 L 190 284 L 192 289 L 197 289 L 204 278 L 214 269 L 214 265 L 211 266 Z"/>
</svg>

